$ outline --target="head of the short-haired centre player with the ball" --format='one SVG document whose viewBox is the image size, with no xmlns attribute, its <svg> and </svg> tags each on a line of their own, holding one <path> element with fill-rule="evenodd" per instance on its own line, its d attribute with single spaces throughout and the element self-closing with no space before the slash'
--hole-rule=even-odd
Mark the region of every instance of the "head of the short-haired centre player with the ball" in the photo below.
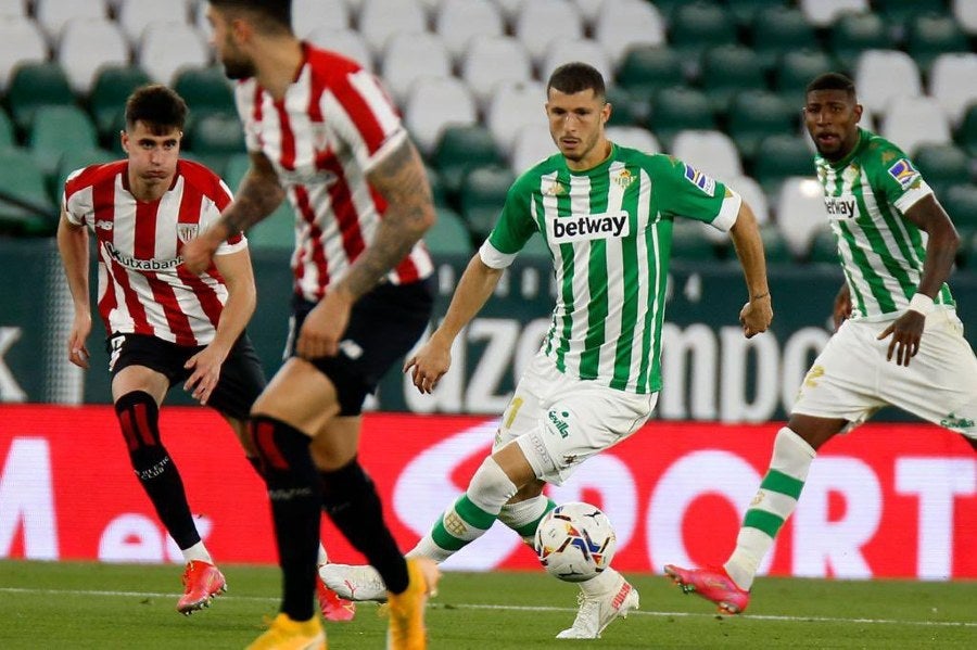
<svg viewBox="0 0 977 650">
<path fill-rule="evenodd" d="M 604 77 L 586 63 L 556 68 L 546 84 L 549 135 L 571 168 L 587 169 L 607 155 L 604 126 L 610 117 Z"/>
</svg>

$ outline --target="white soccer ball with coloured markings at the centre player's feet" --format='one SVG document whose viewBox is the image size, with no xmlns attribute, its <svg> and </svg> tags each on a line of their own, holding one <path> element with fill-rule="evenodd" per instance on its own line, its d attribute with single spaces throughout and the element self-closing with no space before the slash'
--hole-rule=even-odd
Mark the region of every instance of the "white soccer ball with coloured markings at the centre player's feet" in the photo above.
<svg viewBox="0 0 977 650">
<path fill-rule="evenodd" d="M 610 565 L 618 546 L 614 528 L 596 506 L 571 501 L 550 510 L 534 540 L 546 572 L 568 583 L 582 583 Z"/>
</svg>

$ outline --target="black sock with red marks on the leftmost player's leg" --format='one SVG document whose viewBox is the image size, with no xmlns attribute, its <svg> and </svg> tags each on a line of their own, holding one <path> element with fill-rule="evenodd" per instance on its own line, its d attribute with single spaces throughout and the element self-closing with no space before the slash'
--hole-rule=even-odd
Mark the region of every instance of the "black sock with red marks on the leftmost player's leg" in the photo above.
<svg viewBox="0 0 977 650">
<path fill-rule="evenodd" d="M 145 490 L 160 521 L 181 549 L 200 541 L 187 504 L 183 481 L 166 447 L 160 442 L 160 408 L 149 393 L 126 393 L 115 403 L 136 476 Z"/>
</svg>

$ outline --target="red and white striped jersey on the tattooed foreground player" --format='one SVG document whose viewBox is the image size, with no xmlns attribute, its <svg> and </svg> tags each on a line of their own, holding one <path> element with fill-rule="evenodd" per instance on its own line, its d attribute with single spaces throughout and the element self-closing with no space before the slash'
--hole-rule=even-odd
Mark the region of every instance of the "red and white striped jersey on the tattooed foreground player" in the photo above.
<svg viewBox="0 0 977 650">
<path fill-rule="evenodd" d="M 295 213 L 295 291 L 316 302 L 376 235 L 386 209 L 367 173 L 407 133 L 380 84 L 359 64 L 303 43 L 305 61 L 276 101 L 254 78 L 236 87 L 248 149 L 264 153 Z M 389 275 L 406 284 L 433 264 L 421 242 Z"/>
</svg>

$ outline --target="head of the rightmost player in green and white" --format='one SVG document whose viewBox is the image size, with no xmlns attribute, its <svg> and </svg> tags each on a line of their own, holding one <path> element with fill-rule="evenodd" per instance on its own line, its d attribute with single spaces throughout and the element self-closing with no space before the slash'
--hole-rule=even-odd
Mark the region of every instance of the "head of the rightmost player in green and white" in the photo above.
<svg viewBox="0 0 977 650">
<path fill-rule="evenodd" d="M 854 149 L 861 118 L 854 82 L 845 75 L 825 73 L 808 84 L 804 125 L 825 158 L 839 161 Z"/>
</svg>

